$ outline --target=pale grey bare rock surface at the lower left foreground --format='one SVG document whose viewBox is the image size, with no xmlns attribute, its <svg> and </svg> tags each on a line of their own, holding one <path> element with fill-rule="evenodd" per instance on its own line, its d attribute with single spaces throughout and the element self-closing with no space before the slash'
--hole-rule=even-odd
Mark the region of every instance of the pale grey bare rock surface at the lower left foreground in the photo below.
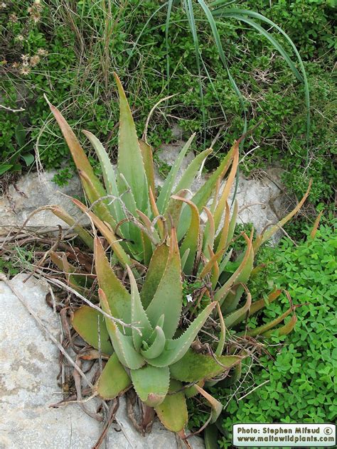
<svg viewBox="0 0 337 449">
<path fill-rule="evenodd" d="M 60 337 L 57 313 L 46 304 L 48 284 L 18 274 L 10 283 L 38 314 L 49 332 Z M 90 449 L 100 436 L 100 423 L 72 404 L 50 409 L 62 399 L 56 377 L 58 348 L 34 318 L 0 281 L 0 448 L 1 449 Z M 92 401 L 91 406 L 95 406 Z M 86 404 L 88 405 L 88 403 Z M 142 437 L 132 426 L 125 402 L 117 413 L 124 433 L 109 431 L 109 449 L 174 449 L 176 437 L 159 421 L 149 436 Z M 125 435 L 129 438 L 129 442 Z M 203 449 L 203 440 L 192 438 L 193 449 Z"/>
</svg>

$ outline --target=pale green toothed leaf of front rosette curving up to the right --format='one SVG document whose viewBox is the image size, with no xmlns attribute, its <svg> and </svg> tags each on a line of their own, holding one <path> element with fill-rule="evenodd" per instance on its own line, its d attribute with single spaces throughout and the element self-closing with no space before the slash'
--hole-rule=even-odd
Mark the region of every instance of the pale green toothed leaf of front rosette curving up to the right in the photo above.
<svg viewBox="0 0 337 449">
<path fill-rule="evenodd" d="M 181 357 L 183 357 L 188 351 L 188 348 L 196 338 L 199 330 L 205 324 L 205 321 L 215 308 L 215 305 L 215 301 L 210 303 L 201 313 L 199 313 L 198 317 L 193 321 L 193 323 L 191 323 L 189 328 L 183 332 L 181 337 L 176 340 L 166 340 L 165 348 L 161 355 L 159 355 L 156 359 L 146 359 L 146 362 L 154 367 L 167 367 L 175 362 L 178 362 L 178 360 L 181 359 Z"/>
</svg>

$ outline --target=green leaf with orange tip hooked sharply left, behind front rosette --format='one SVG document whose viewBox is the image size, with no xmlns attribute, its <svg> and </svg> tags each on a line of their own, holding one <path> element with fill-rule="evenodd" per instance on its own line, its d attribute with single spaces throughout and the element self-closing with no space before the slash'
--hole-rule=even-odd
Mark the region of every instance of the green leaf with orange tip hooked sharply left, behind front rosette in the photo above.
<svg viewBox="0 0 337 449">
<path fill-rule="evenodd" d="M 191 207 L 192 217 L 191 223 L 186 233 L 185 238 L 183 239 L 183 243 L 180 247 L 181 256 L 185 254 L 186 249 L 189 249 L 188 257 L 186 259 L 184 273 L 192 274 L 194 259 L 196 258 L 196 252 L 199 245 L 199 232 L 200 232 L 200 217 L 198 207 L 191 201 L 186 198 L 181 198 L 176 195 L 173 195 L 171 198 L 174 200 L 180 200 L 182 202 L 186 202 L 186 204 Z"/>
</svg>

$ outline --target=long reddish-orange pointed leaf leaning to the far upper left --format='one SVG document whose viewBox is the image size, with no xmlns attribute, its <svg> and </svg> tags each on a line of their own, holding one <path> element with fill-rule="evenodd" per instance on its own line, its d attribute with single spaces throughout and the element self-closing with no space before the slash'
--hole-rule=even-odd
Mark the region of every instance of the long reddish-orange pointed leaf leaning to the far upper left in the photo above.
<svg viewBox="0 0 337 449">
<path fill-rule="evenodd" d="M 87 156 L 85 156 L 85 152 L 83 151 L 82 146 L 80 146 L 80 142 L 77 140 L 77 137 L 75 136 L 73 130 L 70 128 L 67 121 L 65 121 L 65 118 L 60 113 L 60 111 L 55 106 L 53 106 L 53 104 L 50 104 L 50 102 L 48 102 L 48 105 L 50 107 L 50 111 L 53 112 L 53 115 L 58 122 L 58 126 L 60 126 L 60 130 L 62 131 L 65 141 L 68 144 L 77 170 L 86 173 L 87 177 L 90 178 L 92 185 L 94 185 L 100 196 L 106 195 L 105 188 L 102 186 L 100 180 L 94 174 L 92 166 L 90 165 Z"/>
</svg>

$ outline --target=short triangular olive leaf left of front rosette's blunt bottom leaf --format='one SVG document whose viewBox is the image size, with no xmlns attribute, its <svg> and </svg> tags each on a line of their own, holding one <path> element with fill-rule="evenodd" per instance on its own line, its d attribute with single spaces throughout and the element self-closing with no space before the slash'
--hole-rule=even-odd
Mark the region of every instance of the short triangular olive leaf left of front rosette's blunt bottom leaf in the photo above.
<svg viewBox="0 0 337 449">
<path fill-rule="evenodd" d="M 103 368 L 96 391 L 102 399 L 109 400 L 123 394 L 132 385 L 123 365 L 116 354 L 113 354 Z"/>
</svg>

